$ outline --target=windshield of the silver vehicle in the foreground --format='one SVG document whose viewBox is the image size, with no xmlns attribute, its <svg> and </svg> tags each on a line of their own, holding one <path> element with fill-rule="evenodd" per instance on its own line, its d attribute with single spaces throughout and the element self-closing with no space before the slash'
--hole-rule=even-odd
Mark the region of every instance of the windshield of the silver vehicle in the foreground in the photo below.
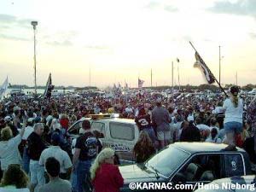
<svg viewBox="0 0 256 192">
<path fill-rule="evenodd" d="M 153 169 L 166 177 L 170 177 L 172 173 L 180 166 L 183 161 L 189 158 L 190 154 L 171 146 L 155 154 L 145 166 Z"/>
</svg>

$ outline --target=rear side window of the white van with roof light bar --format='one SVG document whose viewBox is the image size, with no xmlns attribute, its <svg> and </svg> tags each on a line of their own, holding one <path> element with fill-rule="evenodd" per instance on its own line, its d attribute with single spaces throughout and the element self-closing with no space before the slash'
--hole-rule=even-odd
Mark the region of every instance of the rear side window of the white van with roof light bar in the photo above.
<svg viewBox="0 0 256 192">
<path fill-rule="evenodd" d="M 134 125 L 110 122 L 110 136 L 116 139 L 133 141 L 135 138 Z"/>
</svg>

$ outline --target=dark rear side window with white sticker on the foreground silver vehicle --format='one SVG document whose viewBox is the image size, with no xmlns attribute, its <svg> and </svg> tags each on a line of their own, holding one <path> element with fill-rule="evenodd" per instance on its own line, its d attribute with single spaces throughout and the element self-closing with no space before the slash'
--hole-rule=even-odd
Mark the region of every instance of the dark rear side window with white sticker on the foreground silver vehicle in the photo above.
<svg viewBox="0 0 256 192">
<path fill-rule="evenodd" d="M 244 175 L 243 162 L 240 154 L 224 154 L 225 158 L 225 176 L 241 176 Z"/>
</svg>

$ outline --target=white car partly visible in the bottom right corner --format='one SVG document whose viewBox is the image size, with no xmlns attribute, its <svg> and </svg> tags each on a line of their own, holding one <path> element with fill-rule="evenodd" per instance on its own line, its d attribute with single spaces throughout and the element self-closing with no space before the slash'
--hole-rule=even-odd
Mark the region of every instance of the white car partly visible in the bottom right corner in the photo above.
<svg viewBox="0 0 256 192">
<path fill-rule="evenodd" d="M 201 185 L 195 192 L 251 192 L 256 190 L 256 176 L 229 177 Z"/>
</svg>

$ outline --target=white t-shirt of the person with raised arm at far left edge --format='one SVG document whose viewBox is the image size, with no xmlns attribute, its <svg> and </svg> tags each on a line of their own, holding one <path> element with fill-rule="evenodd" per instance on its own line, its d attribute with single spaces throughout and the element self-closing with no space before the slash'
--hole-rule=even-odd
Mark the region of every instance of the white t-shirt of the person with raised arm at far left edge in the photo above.
<svg viewBox="0 0 256 192">
<path fill-rule="evenodd" d="M 20 134 L 9 139 L 9 141 L 0 142 L 0 161 L 2 170 L 7 170 L 10 164 L 21 165 L 21 157 L 18 149 L 20 142 Z"/>
</svg>

